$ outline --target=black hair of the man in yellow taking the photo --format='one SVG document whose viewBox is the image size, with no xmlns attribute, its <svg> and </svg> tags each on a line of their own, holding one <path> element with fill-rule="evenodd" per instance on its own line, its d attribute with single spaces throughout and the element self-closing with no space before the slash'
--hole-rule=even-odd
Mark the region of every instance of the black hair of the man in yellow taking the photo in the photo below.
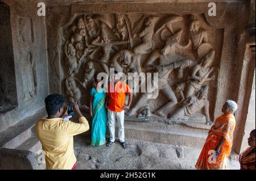
<svg viewBox="0 0 256 181">
<path fill-rule="evenodd" d="M 46 103 L 46 111 L 48 115 L 56 115 L 57 111 L 63 107 L 65 98 L 60 94 L 51 94 L 44 99 Z"/>
</svg>

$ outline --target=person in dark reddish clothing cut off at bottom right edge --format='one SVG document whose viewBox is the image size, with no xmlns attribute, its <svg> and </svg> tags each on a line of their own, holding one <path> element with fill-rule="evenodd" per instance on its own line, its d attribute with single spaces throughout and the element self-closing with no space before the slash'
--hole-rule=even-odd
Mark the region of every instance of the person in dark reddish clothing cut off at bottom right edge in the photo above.
<svg viewBox="0 0 256 181">
<path fill-rule="evenodd" d="M 255 170 L 255 129 L 250 133 L 248 145 L 250 147 L 239 156 L 241 170 Z"/>
</svg>

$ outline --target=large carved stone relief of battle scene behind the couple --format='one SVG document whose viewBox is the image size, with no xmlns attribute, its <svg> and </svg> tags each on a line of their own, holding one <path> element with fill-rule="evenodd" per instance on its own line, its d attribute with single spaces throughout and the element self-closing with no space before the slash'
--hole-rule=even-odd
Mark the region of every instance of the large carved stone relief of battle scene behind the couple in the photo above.
<svg viewBox="0 0 256 181">
<path fill-rule="evenodd" d="M 167 124 L 213 121 L 222 32 L 209 27 L 202 15 L 82 14 L 61 32 L 63 90 L 69 102 L 88 109 L 94 75 L 110 74 L 110 68 L 158 73 L 157 98 L 134 92 L 127 117 L 158 117 Z"/>
</svg>

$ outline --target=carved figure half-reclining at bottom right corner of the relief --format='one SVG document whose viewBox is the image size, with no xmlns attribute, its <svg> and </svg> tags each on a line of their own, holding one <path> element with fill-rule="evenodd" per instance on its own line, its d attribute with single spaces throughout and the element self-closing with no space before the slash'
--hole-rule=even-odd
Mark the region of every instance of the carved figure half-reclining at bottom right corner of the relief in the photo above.
<svg viewBox="0 0 256 181">
<path fill-rule="evenodd" d="M 202 108 L 204 109 L 204 115 L 207 120 L 207 124 L 210 123 L 209 118 L 209 100 L 207 99 L 208 94 L 208 86 L 204 85 L 201 89 L 197 92 L 197 95 L 189 96 L 185 99 L 182 103 L 181 108 L 175 111 L 170 119 L 183 119 L 184 116 L 194 117 L 194 119 L 199 119 L 200 117 L 196 117 L 195 113 L 200 111 Z"/>
</svg>

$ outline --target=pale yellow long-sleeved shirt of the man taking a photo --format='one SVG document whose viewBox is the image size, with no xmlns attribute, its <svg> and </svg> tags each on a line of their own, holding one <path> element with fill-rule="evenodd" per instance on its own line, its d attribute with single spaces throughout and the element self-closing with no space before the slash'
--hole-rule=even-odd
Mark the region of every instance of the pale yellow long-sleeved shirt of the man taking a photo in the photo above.
<svg viewBox="0 0 256 181">
<path fill-rule="evenodd" d="M 72 169 L 76 163 L 73 136 L 89 130 L 85 117 L 80 117 L 79 121 L 73 123 L 61 118 L 36 121 L 36 135 L 46 157 L 46 169 Z"/>
</svg>

